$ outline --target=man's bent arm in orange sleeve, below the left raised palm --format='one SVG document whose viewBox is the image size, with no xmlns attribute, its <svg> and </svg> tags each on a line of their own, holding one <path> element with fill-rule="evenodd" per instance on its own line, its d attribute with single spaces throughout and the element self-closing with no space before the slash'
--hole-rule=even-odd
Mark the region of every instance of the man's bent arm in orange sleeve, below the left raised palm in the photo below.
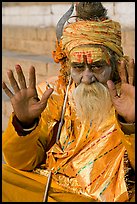
<svg viewBox="0 0 137 204">
<path fill-rule="evenodd" d="M 54 81 L 52 83 L 54 84 Z M 45 89 L 48 89 L 45 82 L 37 86 L 39 98 L 42 97 Z M 35 121 L 36 126 L 34 123 L 28 131 L 27 129 L 24 131 L 15 114 L 12 113 L 2 137 L 3 156 L 6 163 L 14 168 L 32 170 L 41 162 L 45 162 L 46 151 L 52 144 L 52 136 L 56 134 L 54 127 L 60 119 L 62 110 L 64 94 L 62 89 L 59 90 L 61 90 L 60 93 L 55 85 L 46 109 Z"/>
</svg>

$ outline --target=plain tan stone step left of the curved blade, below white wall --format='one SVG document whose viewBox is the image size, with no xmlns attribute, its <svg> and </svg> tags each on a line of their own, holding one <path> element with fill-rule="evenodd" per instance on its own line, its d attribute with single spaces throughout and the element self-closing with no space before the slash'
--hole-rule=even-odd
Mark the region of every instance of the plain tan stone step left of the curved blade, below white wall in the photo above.
<svg viewBox="0 0 137 204">
<path fill-rule="evenodd" d="M 55 50 L 54 27 L 40 28 L 27 26 L 2 27 L 2 48 L 39 55 L 50 55 Z"/>
</svg>

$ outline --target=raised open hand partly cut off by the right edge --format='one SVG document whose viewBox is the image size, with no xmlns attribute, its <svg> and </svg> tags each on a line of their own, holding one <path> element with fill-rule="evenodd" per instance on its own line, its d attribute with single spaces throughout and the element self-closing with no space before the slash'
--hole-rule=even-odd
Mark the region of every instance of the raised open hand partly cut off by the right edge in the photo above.
<svg viewBox="0 0 137 204">
<path fill-rule="evenodd" d="M 116 86 L 111 80 L 107 82 L 117 113 L 129 123 L 135 122 L 134 67 L 133 59 L 130 60 L 127 69 L 125 61 L 121 61 L 118 70 L 121 78 L 120 94 L 117 93 Z"/>
</svg>

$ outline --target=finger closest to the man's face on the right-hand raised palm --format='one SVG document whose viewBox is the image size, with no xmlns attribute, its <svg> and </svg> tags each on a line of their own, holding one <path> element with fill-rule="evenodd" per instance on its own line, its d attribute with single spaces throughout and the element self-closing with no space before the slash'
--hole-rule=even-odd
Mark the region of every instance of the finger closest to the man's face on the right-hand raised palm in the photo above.
<svg viewBox="0 0 137 204">
<path fill-rule="evenodd" d="M 125 60 L 122 60 L 120 62 L 120 65 L 118 66 L 118 73 L 121 78 L 122 83 L 127 83 L 127 70 L 126 70 L 126 62 Z"/>
</svg>

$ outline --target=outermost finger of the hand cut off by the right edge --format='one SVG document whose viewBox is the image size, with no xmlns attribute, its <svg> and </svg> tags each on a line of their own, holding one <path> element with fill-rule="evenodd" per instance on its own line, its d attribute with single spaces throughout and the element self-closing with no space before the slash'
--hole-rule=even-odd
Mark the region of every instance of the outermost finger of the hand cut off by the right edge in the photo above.
<svg viewBox="0 0 137 204">
<path fill-rule="evenodd" d="M 128 66 L 128 83 L 134 85 L 134 59 L 131 59 Z"/>
</svg>

